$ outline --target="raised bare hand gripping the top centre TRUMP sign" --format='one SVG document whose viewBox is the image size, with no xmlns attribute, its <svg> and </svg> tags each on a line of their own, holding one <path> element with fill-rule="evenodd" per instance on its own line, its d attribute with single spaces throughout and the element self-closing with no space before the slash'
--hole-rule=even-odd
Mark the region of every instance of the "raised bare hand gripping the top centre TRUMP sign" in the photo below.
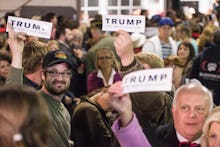
<svg viewBox="0 0 220 147">
<path fill-rule="evenodd" d="M 123 66 L 127 66 L 134 60 L 133 42 L 130 35 L 125 31 L 118 31 L 114 45 Z"/>
</svg>

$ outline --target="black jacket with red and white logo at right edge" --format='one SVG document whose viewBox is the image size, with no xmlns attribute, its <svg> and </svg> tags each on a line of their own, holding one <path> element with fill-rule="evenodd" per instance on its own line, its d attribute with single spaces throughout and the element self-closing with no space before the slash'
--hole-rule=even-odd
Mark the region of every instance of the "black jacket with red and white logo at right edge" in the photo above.
<svg viewBox="0 0 220 147">
<path fill-rule="evenodd" d="M 220 105 L 220 45 L 210 44 L 193 61 L 190 78 L 198 79 L 213 92 L 214 103 Z"/>
</svg>

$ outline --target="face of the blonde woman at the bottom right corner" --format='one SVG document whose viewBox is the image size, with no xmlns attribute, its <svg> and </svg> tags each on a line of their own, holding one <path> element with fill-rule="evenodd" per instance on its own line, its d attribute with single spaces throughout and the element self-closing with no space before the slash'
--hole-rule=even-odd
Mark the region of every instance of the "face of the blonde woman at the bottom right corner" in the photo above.
<svg viewBox="0 0 220 147">
<path fill-rule="evenodd" d="M 209 147 L 220 146 L 220 123 L 212 122 L 208 134 Z"/>
</svg>

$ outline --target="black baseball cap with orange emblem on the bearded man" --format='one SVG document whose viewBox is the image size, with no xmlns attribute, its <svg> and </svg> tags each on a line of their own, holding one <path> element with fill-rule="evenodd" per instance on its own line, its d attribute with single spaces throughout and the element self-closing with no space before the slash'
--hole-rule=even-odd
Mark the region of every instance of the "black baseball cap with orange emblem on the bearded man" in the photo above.
<svg viewBox="0 0 220 147">
<path fill-rule="evenodd" d="M 71 68 L 73 68 L 73 57 L 66 51 L 54 50 L 45 55 L 42 67 L 45 68 L 59 63 L 67 63 Z"/>
</svg>

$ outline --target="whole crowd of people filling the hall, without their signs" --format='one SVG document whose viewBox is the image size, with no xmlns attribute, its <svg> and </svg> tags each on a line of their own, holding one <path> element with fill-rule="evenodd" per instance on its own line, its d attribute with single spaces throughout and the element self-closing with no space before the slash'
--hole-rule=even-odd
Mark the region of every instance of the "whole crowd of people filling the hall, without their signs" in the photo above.
<svg viewBox="0 0 220 147">
<path fill-rule="evenodd" d="M 2 26 L 0 146 L 220 146 L 218 20 L 171 12 L 146 16 L 143 34 L 103 31 L 98 14 L 45 14 L 50 39 Z M 123 92 L 125 75 L 165 67 L 171 91 Z"/>
</svg>

